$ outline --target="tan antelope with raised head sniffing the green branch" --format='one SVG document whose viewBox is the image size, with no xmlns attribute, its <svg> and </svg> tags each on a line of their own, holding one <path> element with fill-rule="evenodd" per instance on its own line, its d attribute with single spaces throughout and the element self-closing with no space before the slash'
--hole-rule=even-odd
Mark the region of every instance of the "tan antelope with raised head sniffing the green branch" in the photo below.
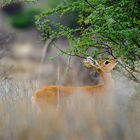
<svg viewBox="0 0 140 140">
<path fill-rule="evenodd" d="M 45 86 L 33 94 L 35 101 L 43 99 L 48 103 L 53 104 L 57 102 L 58 95 L 61 99 L 78 92 L 85 95 L 94 95 L 96 98 L 99 98 L 100 95 L 104 92 L 112 92 L 114 88 L 114 81 L 111 77 L 111 70 L 115 67 L 116 60 L 111 58 L 108 60 L 96 61 L 91 57 L 87 57 L 83 63 L 87 68 L 96 68 L 100 77 L 103 79 L 103 83 L 99 83 L 98 85 L 93 86 L 81 87 L 54 85 Z"/>
</svg>

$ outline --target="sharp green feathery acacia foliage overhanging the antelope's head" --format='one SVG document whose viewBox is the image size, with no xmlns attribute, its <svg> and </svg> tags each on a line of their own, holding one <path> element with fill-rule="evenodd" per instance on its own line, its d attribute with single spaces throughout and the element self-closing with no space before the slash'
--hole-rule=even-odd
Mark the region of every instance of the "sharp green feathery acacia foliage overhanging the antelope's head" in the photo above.
<svg viewBox="0 0 140 140">
<path fill-rule="evenodd" d="M 70 54 L 86 57 L 121 58 L 129 67 L 140 59 L 140 2 L 138 0 L 66 0 L 36 17 L 42 39 L 69 39 Z M 70 12 L 77 13 L 76 28 L 54 22 Z"/>
</svg>

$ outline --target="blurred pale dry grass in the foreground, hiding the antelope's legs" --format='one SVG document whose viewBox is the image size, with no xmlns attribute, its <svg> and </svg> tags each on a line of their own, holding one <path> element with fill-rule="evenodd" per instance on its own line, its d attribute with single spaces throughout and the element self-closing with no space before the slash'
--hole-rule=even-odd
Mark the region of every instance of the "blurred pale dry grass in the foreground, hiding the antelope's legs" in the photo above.
<svg viewBox="0 0 140 140">
<path fill-rule="evenodd" d="M 124 93 L 122 96 L 122 88 L 118 89 L 109 108 L 106 103 L 110 101 L 106 98 L 97 105 L 94 99 L 77 94 L 70 97 L 67 104 L 60 101 L 59 109 L 47 106 L 45 112 L 39 113 L 31 104 L 31 95 L 37 88 L 38 84 L 35 81 L 1 82 L 0 140 L 140 138 L 139 89 L 136 90 L 137 93 L 133 93 L 133 98 L 128 97 L 128 100 L 124 100 L 128 94 Z"/>
</svg>

